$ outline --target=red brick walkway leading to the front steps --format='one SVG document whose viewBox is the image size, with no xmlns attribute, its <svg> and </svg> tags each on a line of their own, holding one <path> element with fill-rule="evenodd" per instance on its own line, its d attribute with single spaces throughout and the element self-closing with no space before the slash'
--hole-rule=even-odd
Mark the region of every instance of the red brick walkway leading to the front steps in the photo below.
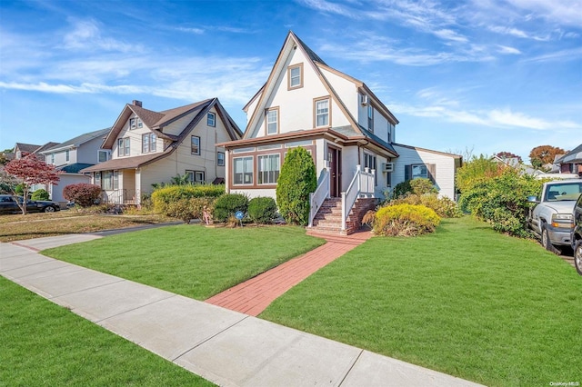
<svg viewBox="0 0 582 387">
<path fill-rule="evenodd" d="M 363 231 L 348 236 L 323 233 L 310 233 L 310 235 L 324 238 L 327 243 L 244 283 L 239 283 L 223 293 L 218 293 L 207 299 L 206 303 L 256 316 L 297 283 L 316 273 L 327 263 L 331 263 L 366 242 L 372 233 Z"/>
</svg>

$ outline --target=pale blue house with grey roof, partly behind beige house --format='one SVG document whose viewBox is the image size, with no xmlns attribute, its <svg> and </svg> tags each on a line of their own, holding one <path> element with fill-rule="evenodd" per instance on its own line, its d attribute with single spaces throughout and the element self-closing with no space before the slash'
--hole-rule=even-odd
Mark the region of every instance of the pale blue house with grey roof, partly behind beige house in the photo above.
<svg viewBox="0 0 582 387">
<path fill-rule="evenodd" d="M 63 196 L 63 189 L 66 185 L 91 183 L 91 176 L 81 174 L 79 171 L 111 158 L 109 150 L 101 149 L 101 144 L 103 144 L 110 129 L 81 134 L 65 141 L 65 143 L 40 152 L 45 158 L 46 164 L 54 164 L 61 173 L 58 184 L 50 184 L 47 188 L 51 200 L 66 203 L 67 200 Z"/>
</svg>

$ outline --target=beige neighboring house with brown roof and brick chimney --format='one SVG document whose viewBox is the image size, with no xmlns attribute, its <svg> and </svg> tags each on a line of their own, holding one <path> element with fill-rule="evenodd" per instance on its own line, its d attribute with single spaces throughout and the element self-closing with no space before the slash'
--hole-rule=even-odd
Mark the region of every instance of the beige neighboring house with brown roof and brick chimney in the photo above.
<svg viewBox="0 0 582 387">
<path fill-rule="evenodd" d="M 191 183 L 222 183 L 225 149 L 242 135 L 217 98 L 154 112 L 126 104 L 105 137 L 111 160 L 85 168 L 108 203 L 140 204 L 152 184 L 187 174 Z"/>
</svg>

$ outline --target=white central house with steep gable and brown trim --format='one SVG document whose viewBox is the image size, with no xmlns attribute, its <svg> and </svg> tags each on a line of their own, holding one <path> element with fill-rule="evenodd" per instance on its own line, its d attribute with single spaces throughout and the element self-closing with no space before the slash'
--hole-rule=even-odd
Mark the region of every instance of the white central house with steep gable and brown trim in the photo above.
<svg viewBox="0 0 582 387">
<path fill-rule="evenodd" d="M 350 215 L 358 198 L 382 197 L 405 179 L 427 177 L 441 195 L 455 198 L 461 156 L 395 144 L 398 120 L 386 105 L 366 84 L 326 65 L 293 32 L 243 110 L 244 137 L 219 144 L 227 153 L 228 192 L 275 197 L 287 150 L 303 146 L 318 176 L 310 223 L 323 223 L 313 221 L 327 199 L 326 210 L 331 203 L 341 207 L 340 232 L 350 233 L 359 225 L 359 214 Z M 369 203 L 356 208 L 362 212 Z"/>
</svg>

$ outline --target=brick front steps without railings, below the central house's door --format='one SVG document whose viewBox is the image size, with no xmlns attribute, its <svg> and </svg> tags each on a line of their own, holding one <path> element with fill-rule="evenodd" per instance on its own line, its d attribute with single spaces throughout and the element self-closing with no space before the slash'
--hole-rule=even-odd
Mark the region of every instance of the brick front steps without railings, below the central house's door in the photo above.
<svg viewBox="0 0 582 387">
<path fill-rule="evenodd" d="M 313 226 L 309 233 L 329 233 L 336 235 L 349 235 L 356 233 L 362 224 L 362 218 L 368 210 L 376 208 L 376 198 L 358 198 L 346 220 L 346 230 L 342 230 L 342 199 L 332 197 L 321 204 L 319 212 L 313 220 Z"/>
</svg>

